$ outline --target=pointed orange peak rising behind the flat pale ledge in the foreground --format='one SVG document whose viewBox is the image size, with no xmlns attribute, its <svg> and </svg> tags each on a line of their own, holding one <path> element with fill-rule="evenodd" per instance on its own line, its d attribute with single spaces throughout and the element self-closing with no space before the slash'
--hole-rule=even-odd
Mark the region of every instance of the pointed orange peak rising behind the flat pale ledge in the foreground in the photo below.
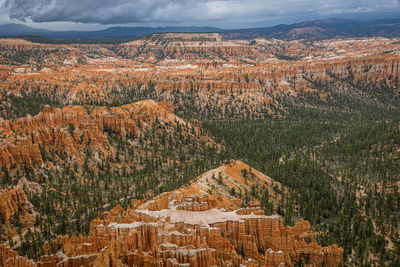
<svg viewBox="0 0 400 267">
<path fill-rule="evenodd" d="M 248 172 L 246 177 L 243 175 L 243 170 Z M 229 164 L 204 173 L 178 190 L 155 197 L 153 201 L 148 201 L 141 207 L 148 210 L 173 208 L 184 211 L 205 211 L 217 208 L 227 211 L 236 210 L 241 215 L 264 214 L 259 209 L 257 201 L 248 203 L 247 209 L 241 209 L 243 201 L 237 197 L 239 194 L 244 195 L 245 192 L 250 192 L 252 185 L 260 190 L 267 190 L 270 201 L 273 202 L 281 199 L 281 194 L 277 194 L 273 187 L 279 188 L 282 192 L 287 190 L 279 182 L 250 168 L 247 164 L 231 161 Z M 235 189 L 235 195 L 232 195 L 232 189 Z M 172 200 L 170 201 L 169 198 Z"/>
</svg>

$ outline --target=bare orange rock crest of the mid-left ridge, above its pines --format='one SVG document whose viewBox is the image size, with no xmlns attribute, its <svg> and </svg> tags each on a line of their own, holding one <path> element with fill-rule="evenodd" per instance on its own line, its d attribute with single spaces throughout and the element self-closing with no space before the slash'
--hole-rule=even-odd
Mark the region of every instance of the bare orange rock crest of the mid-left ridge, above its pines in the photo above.
<svg viewBox="0 0 400 267">
<path fill-rule="evenodd" d="M 57 151 L 60 160 L 69 158 L 83 162 L 84 147 L 89 147 L 97 157 L 107 156 L 113 152 L 108 132 L 125 139 L 139 134 L 140 129 L 152 125 L 155 120 L 162 124 L 183 123 L 172 110 L 169 103 L 145 100 L 109 109 L 47 106 L 34 117 L 1 120 L 0 170 L 40 167 L 49 149 Z"/>
</svg>

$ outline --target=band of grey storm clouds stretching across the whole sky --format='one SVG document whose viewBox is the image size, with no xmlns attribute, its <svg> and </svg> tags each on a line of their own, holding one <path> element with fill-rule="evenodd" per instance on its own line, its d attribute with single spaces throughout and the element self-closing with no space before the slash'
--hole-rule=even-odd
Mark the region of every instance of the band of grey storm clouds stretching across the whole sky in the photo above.
<svg viewBox="0 0 400 267">
<path fill-rule="evenodd" d="M 0 0 L 18 21 L 101 24 L 248 22 L 398 11 L 400 0 Z M 1 6 L 1 4 L 0 4 Z M 1 12 L 0 12 L 1 13 Z"/>
</svg>

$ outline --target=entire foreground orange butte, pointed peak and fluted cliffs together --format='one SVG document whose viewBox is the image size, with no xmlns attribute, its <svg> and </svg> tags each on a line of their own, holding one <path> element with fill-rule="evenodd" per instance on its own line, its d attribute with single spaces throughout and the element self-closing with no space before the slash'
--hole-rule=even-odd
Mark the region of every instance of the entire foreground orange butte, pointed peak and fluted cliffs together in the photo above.
<svg viewBox="0 0 400 267">
<path fill-rule="evenodd" d="M 243 167 L 249 168 L 233 161 L 177 191 L 100 214 L 91 222 L 89 236 L 59 237 L 63 253 L 44 256 L 37 266 L 273 267 L 292 266 L 300 258 L 314 266 L 343 264 L 343 249 L 315 243 L 308 222 L 285 227 L 279 216 L 265 216 L 256 202 L 238 208 L 241 201 L 227 195 L 228 182 L 243 188 L 276 183 L 252 170 L 252 178 L 243 184 L 237 173 Z M 221 173 L 219 186 L 210 181 L 214 173 Z M 205 194 L 210 188 L 212 195 Z M 0 249 L 5 266 L 23 260 L 18 266 L 36 266 L 4 246 Z"/>
</svg>

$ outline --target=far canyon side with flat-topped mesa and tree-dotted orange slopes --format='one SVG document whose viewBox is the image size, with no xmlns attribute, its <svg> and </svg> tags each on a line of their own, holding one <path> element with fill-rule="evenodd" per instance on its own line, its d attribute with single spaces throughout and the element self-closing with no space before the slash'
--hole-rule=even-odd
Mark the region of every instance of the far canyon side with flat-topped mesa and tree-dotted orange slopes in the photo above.
<svg viewBox="0 0 400 267">
<path fill-rule="evenodd" d="M 60 45 L 54 52 L 56 45 L 6 39 L 0 113 L 34 115 L 43 101 L 118 106 L 149 98 L 172 101 L 180 115 L 204 118 L 276 116 L 285 112 L 282 98 L 299 95 L 393 104 L 399 100 L 397 42 L 158 34 L 121 45 Z M 21 49 L 30 51 L 26 60 L 10 66 Z M 45 55 L 35 58 L 37 51 Z M 32 101 L 31 110 L 16 114 L 21 99 Z"/>
</svg>

